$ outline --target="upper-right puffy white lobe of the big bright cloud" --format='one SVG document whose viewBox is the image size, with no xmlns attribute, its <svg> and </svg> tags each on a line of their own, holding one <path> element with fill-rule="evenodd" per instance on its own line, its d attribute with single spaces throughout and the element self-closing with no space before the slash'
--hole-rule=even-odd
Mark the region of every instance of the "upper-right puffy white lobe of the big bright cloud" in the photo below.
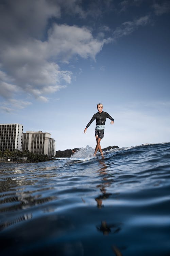
<svg viewBox="0 0 170 256">
<path fill-rule="evenodd" d="M 55 24 L 49 31 L 47 47 L 51 56 L 63 61 L 68 61 L 74 55 L 95 59 L 108 40 L 95 39 L 86 27 Z"/>
</svg>

